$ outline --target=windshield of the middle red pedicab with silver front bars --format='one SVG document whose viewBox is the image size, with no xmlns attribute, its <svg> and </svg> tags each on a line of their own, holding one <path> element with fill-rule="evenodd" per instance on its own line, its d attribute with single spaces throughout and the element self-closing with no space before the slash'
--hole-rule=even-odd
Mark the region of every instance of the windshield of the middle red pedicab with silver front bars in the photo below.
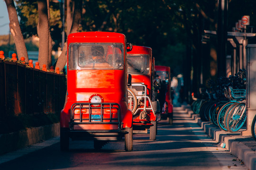
<svg viewBox="0 0 256 170">
<path fill-rule="evenodd" d="M 148 75 L 150 68 L 150 55 L 147 54 L 128 54 L 128 73 L 138 75 Z"/>
</svg>

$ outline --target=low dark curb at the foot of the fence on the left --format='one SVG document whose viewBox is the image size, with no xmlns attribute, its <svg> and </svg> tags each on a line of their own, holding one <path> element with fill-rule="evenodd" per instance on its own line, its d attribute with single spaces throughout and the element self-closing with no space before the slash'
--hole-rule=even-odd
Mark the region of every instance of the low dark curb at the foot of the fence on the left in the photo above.
<svg viewBox="0 0 256 170">
<path fill-rule="evenodd" d="M 32 127 L 9 134 L 0 134 L 0 154 L 15 151 L 60 135 L 60 124 Z"/>
</svg>

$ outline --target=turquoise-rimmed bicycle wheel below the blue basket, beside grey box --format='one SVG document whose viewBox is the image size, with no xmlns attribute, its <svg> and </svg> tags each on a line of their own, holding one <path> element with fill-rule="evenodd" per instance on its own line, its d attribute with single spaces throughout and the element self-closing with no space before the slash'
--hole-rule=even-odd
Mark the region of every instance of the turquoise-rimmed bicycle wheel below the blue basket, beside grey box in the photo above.
<svg viewBox="0 0 256 170">
<path fill-rule="evenodd" d="M 246 103 L 241 102 L 230 110 L 227 118 L 229 132 L 237 132 L 246 122 Z"/>
</svg>

